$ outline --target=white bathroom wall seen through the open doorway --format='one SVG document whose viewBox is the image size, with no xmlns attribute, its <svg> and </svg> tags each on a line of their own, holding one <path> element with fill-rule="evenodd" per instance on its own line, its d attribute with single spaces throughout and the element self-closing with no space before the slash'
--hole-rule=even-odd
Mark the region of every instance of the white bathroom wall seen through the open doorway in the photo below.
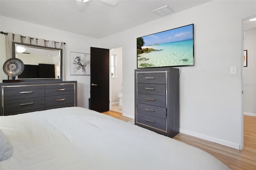
<svg viewBox="0 0 256 170">
<path fill-rule="evenodd" d="M 118 93 L 122 92 L 122 47 L 114 48 L 111 50 L 111 54 L 116 55 L 116 78 L 111 80 L 111 103 L 118 102 Z"/>
</svg>

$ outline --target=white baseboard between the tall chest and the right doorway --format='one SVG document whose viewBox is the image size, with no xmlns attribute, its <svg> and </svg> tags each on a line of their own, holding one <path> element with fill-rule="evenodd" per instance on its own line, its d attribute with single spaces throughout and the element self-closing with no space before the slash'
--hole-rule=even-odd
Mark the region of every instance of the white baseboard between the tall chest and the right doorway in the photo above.
<svg viewBox="0 0 256 170">
<path fill-rule="evenodd" d="M 184 134 L 188 134 L 190 136 L 194 136 L 194 137 L 197 137 L 197 138 L 208 140 L 208 141 L 211 141 L 211 142 L 214 142 L 214 143 L 222 144 L 224 146 L 235 148 L 235 149 L 238 149 L 238 150 L 240 149 L 240 144 L 229 142 L 227 140 L 223 140 L 223 139 L 219 139 L 219 138 L 214 138 L 212 136 L 207 136 L 207 135 L 204 135 L 204 134 L 192 132 L 192 131 L 185 130 L 185 129 L 182 129 L 182 128 L 180 128 L 180 132 L 184 133 Z"/>
</svg>

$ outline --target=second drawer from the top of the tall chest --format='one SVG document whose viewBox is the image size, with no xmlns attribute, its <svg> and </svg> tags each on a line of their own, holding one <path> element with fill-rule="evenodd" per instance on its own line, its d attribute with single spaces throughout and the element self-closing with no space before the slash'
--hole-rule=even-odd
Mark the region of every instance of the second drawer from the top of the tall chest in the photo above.
<svg viewBox="0 0 256 170">
<path fill-rule="evenodd" d="M 138 93 L 152 94 L 152 95 L 166 95 L 166 85 L 164 84 L 146 84 L 138 83 Z"/>
</svg>

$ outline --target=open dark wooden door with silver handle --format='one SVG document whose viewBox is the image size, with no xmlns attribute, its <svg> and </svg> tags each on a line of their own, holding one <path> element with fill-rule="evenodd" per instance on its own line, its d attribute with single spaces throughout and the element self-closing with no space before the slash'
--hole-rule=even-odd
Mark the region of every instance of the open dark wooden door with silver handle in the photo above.
<svg viewBox="0 0 256 170">
<path fill-rule="evenodd" d="M 109 111 L 109 49 L 91 47 L 90 109 Z"/>
</svg>

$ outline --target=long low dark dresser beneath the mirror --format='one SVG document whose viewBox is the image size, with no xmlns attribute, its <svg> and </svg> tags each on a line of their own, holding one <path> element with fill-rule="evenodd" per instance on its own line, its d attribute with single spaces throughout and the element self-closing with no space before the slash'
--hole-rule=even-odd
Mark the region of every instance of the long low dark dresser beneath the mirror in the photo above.
<svg viewBox="0 0 256 170">
<path fill-rule="evenodd" d="M 77 106 L 76 81 L 0 83 L 1 116 Z"/>
</svg>

